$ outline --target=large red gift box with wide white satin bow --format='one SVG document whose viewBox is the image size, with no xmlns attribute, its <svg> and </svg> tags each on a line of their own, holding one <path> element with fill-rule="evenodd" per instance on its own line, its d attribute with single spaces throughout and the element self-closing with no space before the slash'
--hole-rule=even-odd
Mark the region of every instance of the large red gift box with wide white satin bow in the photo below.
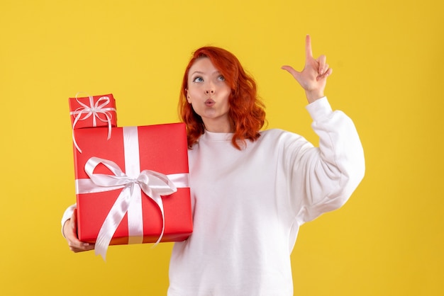
<svg viewBox="0 0 444 296">
<path fill-rule="evenodd" d="M 105 127 L 74 130 L 82 147 L 82 153 L 74 149 L 79 239 L 96 243 L 103 257 L 108 244 L 187 239 L 192 207 L 185 125 L 111 132 L 108 139 Z"/>
</svg>

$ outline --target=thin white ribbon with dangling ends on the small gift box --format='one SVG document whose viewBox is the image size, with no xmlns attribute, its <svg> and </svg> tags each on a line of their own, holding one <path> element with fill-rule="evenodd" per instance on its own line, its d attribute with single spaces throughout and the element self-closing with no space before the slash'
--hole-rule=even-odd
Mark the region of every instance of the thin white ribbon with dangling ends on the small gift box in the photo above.
<svg viewBox="0 0 444 296">
<path fill-rule="evenodd" d="M 94 98 L 92 96 L 89 96 L 89 106 L 87 104 L 82 103 L 77 98 L 78 93 L 75 96 L 75 99 L 77 103 L 80 104 L 80 106 L 74 111 L 70 112 L 70 115 L 74 116 L 74 122 L 72 123 L 72 140 L 74 141 L 74 146 L 79 150 L 80 153 L 82 153 L 82 149 L 79 148 L 77 145 L 77 142 L 74 137 L 74 128 L 75 125 L 77 125 L 77 122 L 79 120 L 86 120 L 87 118 L 92 116 L 92 127 L 97 126 L 97 120 L 98 118 L 102 123 L 108 123 L 108 140 L 111 138 L 111 118 L 113 118 L 113 115 L 109 111 L 116 111 L 116 108 L 106 107 L 110 99 L 107 96 L 100 97 L 96 103 L 94 104 Z M 105 115 L 105 118 L 101 118 L 100 114 Z"/>
</svg>

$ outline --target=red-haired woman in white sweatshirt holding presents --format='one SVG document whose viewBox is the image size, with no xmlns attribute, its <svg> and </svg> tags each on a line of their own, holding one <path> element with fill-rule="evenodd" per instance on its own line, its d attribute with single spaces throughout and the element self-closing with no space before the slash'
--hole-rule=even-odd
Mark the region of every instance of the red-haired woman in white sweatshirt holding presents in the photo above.
<svg viewBox="0 0 444 296">
<path fill-rule="evenodd" d="M 187 124 L 194 232 L 176 242 L 170 296 L 293 295 L 290 254 L 301 224 L 342 206 L 364 176 L 352 120 L 324 96 L 332 69 L 314 59 L 306 37 L 301 72 L 284 66 L 306 92 L 319 147 L 265 121 L 255 81 L 218 47 L 194 52 L 179 108 Z M 94 249 L 77 239 L 75 210 L 62 219 L 72 251 Z"/>
</svg>

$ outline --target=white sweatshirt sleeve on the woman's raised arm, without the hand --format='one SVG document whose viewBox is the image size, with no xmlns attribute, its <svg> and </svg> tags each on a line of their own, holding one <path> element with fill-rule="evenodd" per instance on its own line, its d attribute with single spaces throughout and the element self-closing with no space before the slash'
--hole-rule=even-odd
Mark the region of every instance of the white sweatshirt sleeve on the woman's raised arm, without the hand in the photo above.
<svg viewBox="0 0 444 296">
<path fill-rule="evenodd" d="M 333 111 L 326 97 L 306 108 L 319 147 L 305 144 L 290 149 L 289 178 L 296 188 L 293 196 L 298 197 L 292 205 L 301 222 L 341 207 L 365 173 L 364 152 L 353 121 L 342 111 Z"/>
</svg>

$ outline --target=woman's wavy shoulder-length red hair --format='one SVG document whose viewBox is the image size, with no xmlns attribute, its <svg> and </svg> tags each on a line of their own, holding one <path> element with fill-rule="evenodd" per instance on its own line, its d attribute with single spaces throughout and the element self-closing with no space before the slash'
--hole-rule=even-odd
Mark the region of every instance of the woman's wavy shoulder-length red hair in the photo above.
<svg viewBox="0 0 444 296">
<path fill-rule="evenodd" d="M 260 137 L 259 131 L 265 123 L 265 106 L 257 98 L 255 80 L 245 73 L 238 58 L 231 52 L 219 47 L 201 47 L 194 52 L 185 69 L 179 97 L 179 115 L 187 125 L 188 146 L 191 148 L 205 131 L 202 118 L 194 112 L 192 105 L 187 101 L 189 69 L 202 57 L 211 60 L 231 88 L 228 97 L 230 106 L 228 116 L 233 130 L 231 139 L 233 146 L 240 149 L 239 141 L 245 144 L 245 140 L 257 140 Z"/>
</svg>

